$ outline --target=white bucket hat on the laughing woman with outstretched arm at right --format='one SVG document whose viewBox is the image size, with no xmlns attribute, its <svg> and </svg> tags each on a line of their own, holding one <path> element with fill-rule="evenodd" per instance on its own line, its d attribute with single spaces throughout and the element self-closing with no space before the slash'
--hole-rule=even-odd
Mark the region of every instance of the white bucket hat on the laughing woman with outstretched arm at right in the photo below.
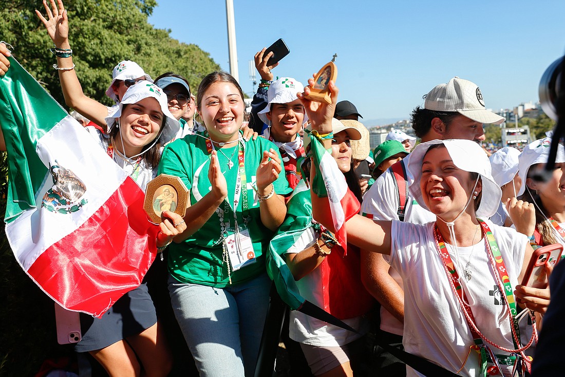
<svg viewBox="0 0 565 377">
<path fill-rule="evenodd" d="M 477 209 L 477 217 L 488 218 L 496 212 L 501 202 L 502 190 L 494 182 L 490 171 L 489 158 L 486 156 L 483 148 L 479 144 L 471 140 L 450 139 L 450 140 L 432 140 L 431 142 L 421 143 L 410 153 L 410 161 L 408 161 L 408 170 L 414 177 L 414 183 L 410 185 L 410 192 L 414 195 L 416 202 L 423 208 L 428 209 L 424 203 L 420 190 L 420 179 L 422 176 L 422 163 L 424 156 L 428 152 L 429 147 L 436 144 L 444 144 L 447 153 L 453 160 L 457 168 L 466 172 L 479 173 L 483 182 L 483 194 L 481 195 L 481 203 Z"/>
</svg>

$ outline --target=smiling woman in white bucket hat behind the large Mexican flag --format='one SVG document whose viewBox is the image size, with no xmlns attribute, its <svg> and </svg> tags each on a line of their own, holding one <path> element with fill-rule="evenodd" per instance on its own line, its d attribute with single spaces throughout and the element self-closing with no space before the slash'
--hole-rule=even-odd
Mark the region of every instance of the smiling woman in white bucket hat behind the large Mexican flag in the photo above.
<svg viewBox="0 0 565 377">
<path fill-rule="evenodd" d="M 142 81 L 125 92 L 120 104 L 106 118 L 108 134 L 86 127 L 101 148 L 145 190 L 156 177 L 164 140 L 179 130 L 179 122 L 167 108 L 167 96 L 154 84 Z M 159 224 L 157 249 L 163 250 L 186 229 L 182 218 L 165 211 Z M 110 375 L 165 376 L 172 358 L 158 326 L 147 286 L 120 298 L 100 319 L 81 314 L 82 340 L 77 352 L 89 352 Z"/>
</svg>

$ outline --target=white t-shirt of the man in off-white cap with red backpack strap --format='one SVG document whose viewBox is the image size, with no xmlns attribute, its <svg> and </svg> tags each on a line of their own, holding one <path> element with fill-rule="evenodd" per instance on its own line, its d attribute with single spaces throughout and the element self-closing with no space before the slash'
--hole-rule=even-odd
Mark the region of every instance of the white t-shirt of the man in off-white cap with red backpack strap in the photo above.
<svg viewBox="0 0 565 377">
<path fill-rule="evenodd" d="M 405 166 L 408 164 L 410 155 L 401 161 Z M 414 177 L 408 172 L 408 180 L 406 185 L 409 187 L 414 182 Z M 394 185 L 394 177 L 388 170 L 380 175 L 369 191 L 363 196 L 363 204 L 361 212 L 372 215 L 374 220 L 398 220 L 398 188 Z M 436 221 L 436 215 L 421 207 L 410 191 L 406 196 L 405 217 L 404 221 L 414 224 L 425 224 L 430 221 Z M 389 275 L 402 286 L 402 278 L 394 268 L 389 269 Z M 381 330 L 396 335 L 402 335 L 403 324 L 395 316 L 390 314 L 388 310 L 381 306 Z"/>
</svg>

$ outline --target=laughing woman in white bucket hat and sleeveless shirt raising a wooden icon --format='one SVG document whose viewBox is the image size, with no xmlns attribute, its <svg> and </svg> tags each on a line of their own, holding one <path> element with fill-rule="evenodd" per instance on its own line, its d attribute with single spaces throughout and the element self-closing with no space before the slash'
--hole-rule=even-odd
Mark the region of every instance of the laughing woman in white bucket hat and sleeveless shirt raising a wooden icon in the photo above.
<svg viewBox="0 0 565 377">
<path fill-rule="evenodd" d="M 337 88 L 331 83 L 330 89 L 335 103 Z M 303 104 L 312 128 L 331 131 L 333 105 Z M 492 352 L 503 357 L 494 358 L 490 371 L 511 373 L 509 354 L 527 361 L 523 351 L 533 341 L 521 345 L 514 295 L 543 311 L 549 292 L 518 286 L 533 251 L 527 237 L 480 219 L 491 216 L 501 198 L 488 158 L 470 140 L 433 140 L 415 148 L 408 169 L 415 177 L 411 193 L 437 220 L 418 225 L 355 215 L 346 224 L 347 241 L 385 254 L 402 276 L 407 352 L 463 376 L 484 375 Z M 330 219 L 318 219 L 324 205 L 312 192 L 314 218 L 333 229 Z M 420 374 L 408 367 L 407 375 Z"/>
</svg>

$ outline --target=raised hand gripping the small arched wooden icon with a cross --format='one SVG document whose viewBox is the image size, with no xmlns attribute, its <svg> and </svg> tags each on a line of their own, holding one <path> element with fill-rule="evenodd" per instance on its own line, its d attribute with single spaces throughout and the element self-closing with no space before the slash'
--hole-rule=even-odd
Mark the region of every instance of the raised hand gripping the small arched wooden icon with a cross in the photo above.
<svg viewBox="0 0 565 377">
<path fill-rule="evenodd" d="M 303 93 L 298 93 L 297 96 L 302 102 L 308 119 L 312 126 L 312 130 L 317 130 L 321 133 L 332 132 L 332 118 L 336 110 L 337 94 L 339 89 L 336 84 L 330 80 L 328 83 L 329 95 L 332 98 L 332 104 L 328 105 L 325 102 L 311 101 L 305 98 L 310 94 L 310 87 L 314 85 L 314 79 L 308 79 L 308 85 L 304 88 Z"/>
</svg>

